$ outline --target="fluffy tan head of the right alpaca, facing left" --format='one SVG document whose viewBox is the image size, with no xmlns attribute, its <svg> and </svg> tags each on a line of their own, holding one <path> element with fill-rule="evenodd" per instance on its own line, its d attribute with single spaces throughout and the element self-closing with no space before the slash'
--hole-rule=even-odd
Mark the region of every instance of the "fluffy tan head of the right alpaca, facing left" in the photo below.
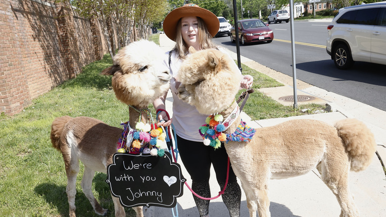
<svg viewBox="0 0 386 217">
<path fill-rule="evenodd" d="M 227 109 L 235 98 L 241 81 L 237 65 L 227 54 L 216 49 L 195 51 L 181 65 L 176 78 L 181 82 L 179 98 L 195 106 L 202 114 Z"/>
</svg>

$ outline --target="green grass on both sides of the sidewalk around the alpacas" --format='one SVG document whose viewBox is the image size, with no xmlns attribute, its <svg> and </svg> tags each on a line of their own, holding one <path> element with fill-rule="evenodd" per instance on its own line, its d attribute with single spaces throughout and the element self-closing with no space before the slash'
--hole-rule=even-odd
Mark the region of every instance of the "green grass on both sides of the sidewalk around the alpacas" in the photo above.
<svg viewBox="0 0 386 217">
<path fill-rule="evenodd" d="M 85 66 L 75 79 L 34 99 L 19 114 L 12 117 L 0 115 L 1 217 L 68 216 L 67 178 L 61 154 L 51 147 L 50 124 L 55 117 L 62 115 L 90 116 L 116 127 L 127 121 L 128 108 L 115 98 L 111 77 L 99 74 L 111 64 L 111 58 L 106 54 L 102 60 Z M 242 67 L 244 73 L 254 77 L 254 89 L 281 85 L 245 65 Z M 152 111 L 154 113 L 154 109 Z M 258 91 L 251 94 L 244 111 L 252 119 L 302 114 Z M 77 178 L 76 214 L 97 217 L 80 187 L 82 166 Z M 114 205 L 105 179 L 105 174 L 96 174 L 93 192 L 101 205 L 110 210 L 107 216 L 114 216 Z M 132 209 L 126 211 L 128 216 L 135 216 Z"/>
</svg>

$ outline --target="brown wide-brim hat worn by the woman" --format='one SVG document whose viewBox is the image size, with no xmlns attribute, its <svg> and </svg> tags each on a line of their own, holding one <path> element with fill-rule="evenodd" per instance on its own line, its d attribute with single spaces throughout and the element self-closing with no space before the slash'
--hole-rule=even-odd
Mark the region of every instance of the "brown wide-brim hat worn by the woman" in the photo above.
<svg viewBox="0 0 386 217">
<path fill-rule="evenodd" d="M 212 37 L 217 34 L 220 28 L 220 22 L 214 13 L 199 7 L 197 4 L 189 3 L 172 10 L 165 17 L 163 21 L 163 32 L 169 39 L 176 41 L 177 23 L 182 17 L 186 16 L 200 17 L 205 22 L 206 28 Z"/>
</svg>

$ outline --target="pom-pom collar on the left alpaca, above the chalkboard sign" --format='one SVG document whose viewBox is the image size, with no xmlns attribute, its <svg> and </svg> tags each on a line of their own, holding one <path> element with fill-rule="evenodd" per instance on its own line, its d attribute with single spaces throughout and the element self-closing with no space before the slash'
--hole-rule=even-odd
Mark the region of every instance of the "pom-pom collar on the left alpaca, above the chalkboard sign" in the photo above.
<svg viewBox="0 0 386 217">
<path fill-rule="evenodd" d="M 149 109 L 136 109 L 132 106 L 131 108 L 140 112 L 139 120 L 136 124 L 136 129 L 130 127 L 129 122 L 122 123 L 123 132 L 122 137 L 117 143 L 117 151 L 120 153 L 130 154 L 149 154 L 152 156 L 164 155 L 164 150 L 161 149 L 162 143 L 164 143 L 166 134 L 162 128 L 157 127 L 154 123 L 153 117 L 151 116 Z M 144 113 L 150 114 L 151 124 L 145 123 Z"/>
</svg>

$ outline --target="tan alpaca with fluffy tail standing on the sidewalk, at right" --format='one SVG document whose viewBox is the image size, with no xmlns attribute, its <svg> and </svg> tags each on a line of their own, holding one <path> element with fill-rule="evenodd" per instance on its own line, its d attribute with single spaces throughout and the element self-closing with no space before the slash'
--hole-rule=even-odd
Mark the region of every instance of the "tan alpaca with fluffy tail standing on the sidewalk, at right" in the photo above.
<svg viewBox="0 0 386 217">
<path fill-rule="evenodd" d="M 239 72 L 229 67 L 230 61 L 216 50 L 192 54 L 179 71 L 180 98 L 203 114 L 225 109 L 221 114 L 226 118 L 237 106 L 229 105 L 240 85 L 239 79 L 232 79 Z M 234 132 L 240 120 L 239 116 L 225 133 Z M 259 217 L 271 216 L 269 179 L 302 175 L 315 167 L 336 195 L 340 217 L 359 216 L 348 189 L 348 173 L 365 169 L 373 159 L 376 143 L 364 123 L 344 119 L 333 127 L 317 120 L 290 120 L 255 130 L 249 143 L 225 144 L 233 170 L 241 180 L 250 217 L 256 216 L 256 210 Z"/>
</svg>

